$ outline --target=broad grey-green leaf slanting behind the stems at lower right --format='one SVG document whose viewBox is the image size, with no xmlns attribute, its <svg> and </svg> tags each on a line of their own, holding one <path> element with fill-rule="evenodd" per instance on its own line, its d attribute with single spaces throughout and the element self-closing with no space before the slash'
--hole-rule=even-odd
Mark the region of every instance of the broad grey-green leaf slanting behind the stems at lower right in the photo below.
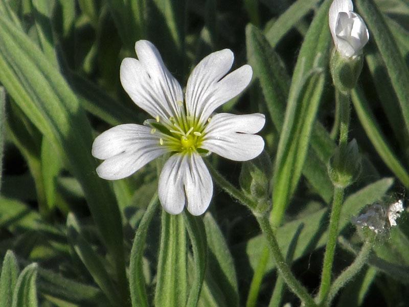
<svg viewBox="0 0 409 307">
<path fill-rule="evenodd" d="M 350 223 L 351 218 L 357 215 L 367 204 L 372 204 L 382 199 L 392 184 L 392 178 L 384 178 L 349 195 L 342 207 L 339 218 L 339 231 L 342 231 Z M 328 209 L 324 208 L 281 226 L 277 230 L 277 240 L 281 250 L 283 253 L 287 253 L 289 247 L 288 242 L 290 242 L 300 225 L 302 225 L 303 228 L 294 250 L 294 261 L 317 248 L 323 247 L 327 242 L 326 223 L 328 223 Z M 258 260 L 262 253 L 260 246 L 263 246 L 263 244 L 265 244 L 265 239 L 262 235 L 248 240 L 246 252 L 253 269 L 257 267 Z M 266 271 L 273 268 L 275 268 L 275 264 L 270 257 Z"/>
</svg>

